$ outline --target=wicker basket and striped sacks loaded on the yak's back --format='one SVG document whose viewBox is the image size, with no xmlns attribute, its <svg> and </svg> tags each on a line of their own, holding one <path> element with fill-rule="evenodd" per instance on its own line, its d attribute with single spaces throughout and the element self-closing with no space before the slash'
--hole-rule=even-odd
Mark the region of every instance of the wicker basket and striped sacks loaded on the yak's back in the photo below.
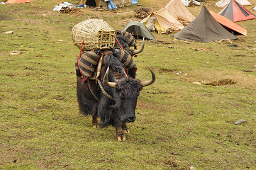
<svg viewBox="0 0 256 170">
<path fill-rule="evenodd" d="M 140 50 L 131 50 L 130 47 L 136 49 L 137 46 L 135 38 L 130 33 L 115 31 L 106 21 L 99 19 L 89 19 L 77 23 L 72 29 L 72 40 L 82 52 L 81 57 L 77 58 L 75 67 L 77 75 L 83 75 L 84 79 L 94 79 L 97 72 L 95 75 L 93 74 L 98 66 L 97 75 L 99 76 L 104 50 L 114 50 L 127 69 L 136 69 L 132 56 L 142 52 L 144 48 L 143 40 Z"/>
</svg>

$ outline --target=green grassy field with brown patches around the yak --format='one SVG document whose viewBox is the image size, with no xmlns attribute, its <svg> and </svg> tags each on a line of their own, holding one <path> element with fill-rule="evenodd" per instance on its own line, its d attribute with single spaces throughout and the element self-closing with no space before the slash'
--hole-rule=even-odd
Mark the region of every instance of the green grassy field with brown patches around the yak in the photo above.
<svg viewBox="0 0 256 170">
<path fill-rule="evenodd" d="M 256 169 L 256 19 L 238 23 L 247 37 L 231 42 L 154 33 L 135 62 L 138 79 L 150 79 L 148 66 L 157 79 L 141 91 L 137 119 L 118 142 L 114 128 L 93 129 L 79 113 L 71 30 L 87 18 L 121 30 L 140 6 L 52 11 L 60 3 L 0 5 L 0 169 Z M 201 6 L 188 9 L 197 16 Z"/>
</svg>

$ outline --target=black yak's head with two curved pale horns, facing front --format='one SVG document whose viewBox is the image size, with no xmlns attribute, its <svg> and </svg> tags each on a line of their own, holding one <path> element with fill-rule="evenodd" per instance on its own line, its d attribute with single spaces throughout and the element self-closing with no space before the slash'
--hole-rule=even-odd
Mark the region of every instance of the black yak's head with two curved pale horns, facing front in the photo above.
<svg viewBox="0 0 256 170">
<path fill-rule="evenodd" d="M 149 68 L 150 69 L 150 68 Z M 114 96 L 115 106 L 120 113 L 120 118 L 122 122 L 134 122 L 135 121 L 135 108 L 137 105 L 137 99 L 140 95 L 140 91 L 143 86 L 149 86 L 155 81 L 155 74 L 150 69 L 152 74 L 152 79 L 148 81 L 140 81 L 138 79 L 133 79 L 131 77 L 122 77 L 117 79 L 116 82 L 108 81 L 109 67 L 104 75 L 103 82 L 105 86 L 111 87 L 116 91 Z"/>
</svg>

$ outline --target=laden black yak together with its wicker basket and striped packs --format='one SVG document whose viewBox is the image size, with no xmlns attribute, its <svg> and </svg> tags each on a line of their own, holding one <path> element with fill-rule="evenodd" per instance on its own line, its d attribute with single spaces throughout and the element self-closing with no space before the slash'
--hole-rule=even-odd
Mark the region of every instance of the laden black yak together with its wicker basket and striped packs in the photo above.
<svg viewBox="0 0 256 170">
<path fill-rule="evenodd" d="M 80 50 L 75 62 L 79 111 L 92 115 L 94 128 L 113 125 L 117 139 L 126 140 L 126 123 L 135 121 L 140 91 L 155 81 L 150 68 L 150 80 L 135 79 L 133 56 L 143 52 L 144 38 L 137 49 L 130 33 L 113 30 L 106 21 L 89 19 L 74 26 L 72 40 Z"/>
</svg>

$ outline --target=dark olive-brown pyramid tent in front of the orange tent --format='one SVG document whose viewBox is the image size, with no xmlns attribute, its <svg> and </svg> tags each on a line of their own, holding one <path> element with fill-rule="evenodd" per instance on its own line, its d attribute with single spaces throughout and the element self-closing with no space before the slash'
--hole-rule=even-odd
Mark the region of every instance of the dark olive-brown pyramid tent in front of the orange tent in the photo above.
<svg viewBox="0 0 256 170">
<path fill-rule="evenodd" d="M 201 8 L 197 16 L 185 28 L 175 33 L 174 38 L 195 42 L 211 42 L 216 40 L 237 39 L 219 24 L 205 6 Z"/>
</svg>

